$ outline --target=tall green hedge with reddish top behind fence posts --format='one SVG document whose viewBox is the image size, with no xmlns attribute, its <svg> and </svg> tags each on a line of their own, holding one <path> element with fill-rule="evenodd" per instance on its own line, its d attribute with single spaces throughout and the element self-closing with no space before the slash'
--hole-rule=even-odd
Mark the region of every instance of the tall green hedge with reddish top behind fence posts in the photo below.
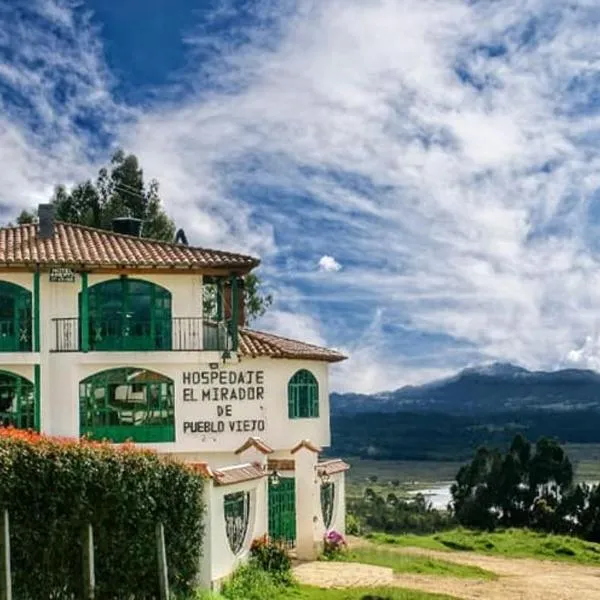
<svg viewBox="0 0 600 600">
<path fill-rule="evenodd" d="M 15 600 L 82 597 L 82 542 L 94 528 L 97 600 L 158 597 L 155 527 L 169 582 L 193 589 L 203 540 L 203 480 L 132 446 L 0 429 L 0 509 L 8 509 Z"/>
</svg>

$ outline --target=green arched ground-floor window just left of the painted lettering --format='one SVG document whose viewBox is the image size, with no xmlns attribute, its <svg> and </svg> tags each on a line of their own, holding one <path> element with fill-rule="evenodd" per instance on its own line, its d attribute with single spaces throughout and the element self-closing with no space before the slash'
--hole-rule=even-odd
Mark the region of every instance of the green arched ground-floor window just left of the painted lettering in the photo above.
<svg viewBox="0 0 600 600">
<path fill-rule="evenodd" d="M 80 433 L 112 442 L 174 442 L 173 381 L 145 369 L 110 369 L 79 384 Z"/>
</svg>

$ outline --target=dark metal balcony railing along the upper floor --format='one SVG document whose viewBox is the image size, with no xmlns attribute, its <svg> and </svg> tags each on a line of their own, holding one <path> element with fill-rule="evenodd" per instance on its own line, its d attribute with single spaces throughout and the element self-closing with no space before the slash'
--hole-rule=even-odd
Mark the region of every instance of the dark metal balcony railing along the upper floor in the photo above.
<svg viewBox="0 0 600 600">
<path fill-rule="evenodd" d="M 52 319 L 54 352 L 81 352 L 82 325 L 80 319 Z M 113 319 L 87 323 L 88 350 L 120 351 L 195 351 L 231 349 L 231 335 L 225 323 L 197 317 L 174 317 L 153 321 Z"/>
</svg>

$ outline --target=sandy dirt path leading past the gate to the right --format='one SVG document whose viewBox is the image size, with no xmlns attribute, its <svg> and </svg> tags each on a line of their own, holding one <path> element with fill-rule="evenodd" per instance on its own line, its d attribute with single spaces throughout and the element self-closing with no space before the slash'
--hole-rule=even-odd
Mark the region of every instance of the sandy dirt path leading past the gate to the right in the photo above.
<svg viewBox="0 0 600 600">
<path fill-rule="evenodd" d="M 456 577 L 394 575 L 391 569 L 354 563 L 305 563 L 296 567 L 302 583 L 318 587 L 398 586 L 465 600 L 599 600 L 600 568 L 552 561 L 504 558 L 422 548 L 386 548 L 404 554 L 473 565 L 493 571 L 495 581 Z"/>
</svg>

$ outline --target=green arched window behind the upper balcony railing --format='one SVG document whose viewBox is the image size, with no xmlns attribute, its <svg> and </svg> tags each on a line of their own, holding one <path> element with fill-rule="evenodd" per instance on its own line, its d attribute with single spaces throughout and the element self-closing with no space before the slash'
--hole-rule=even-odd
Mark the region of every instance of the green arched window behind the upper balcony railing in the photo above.
<svg viewBox="0 0 600 600">
<path fill-rule="evenodd" d="M 171 292 L 150 281 L 111 279 L 88 290 L 91 350 L 170 350 Z"/>
</svg>

